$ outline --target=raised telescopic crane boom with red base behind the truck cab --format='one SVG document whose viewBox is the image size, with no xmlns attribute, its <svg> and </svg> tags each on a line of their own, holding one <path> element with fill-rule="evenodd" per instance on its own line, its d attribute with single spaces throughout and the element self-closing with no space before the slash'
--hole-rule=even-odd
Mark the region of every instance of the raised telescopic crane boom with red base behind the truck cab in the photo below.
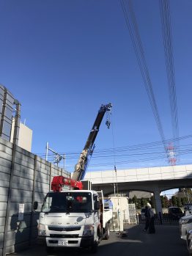
<svg viewBox="0 0 192 256">
<path fill-rule="evenodd" d="M 83 185 L 80 180 L 84 178 L 86 168 L 89 163 L 89 156 L 92 156 L 94 150 L 94 142 L 100 128 L 100 123 L 102 122 L 106 111 L 110 111 L 111 107 L 111 103 L 100 106 L 94 125 L 92 126 L 92 130 L 90 131 L 89 137 L 86 140 L 84 150 L 82 150 L 81 152 L 78 163 L 75 164 L 75 170 L 73 172 L 72 179 L 65 178 L 63 176 L 53 177 L 53 180 L 51 182 L 51 189 L 53 191 L 62 191 L 63 186 L 71 186 L 75 189 L 83 189 Z M 110 127 L 110 121 L 108 119 L 106 121 L 106 125 L 108 128 Z"/>
</svg>

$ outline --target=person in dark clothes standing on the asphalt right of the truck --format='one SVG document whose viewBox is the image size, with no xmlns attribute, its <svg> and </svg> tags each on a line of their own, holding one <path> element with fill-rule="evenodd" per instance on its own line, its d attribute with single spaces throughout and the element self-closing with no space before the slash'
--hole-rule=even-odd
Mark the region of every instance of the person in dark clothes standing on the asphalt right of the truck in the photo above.
<svg viewBox="0 0 192 256">
<path fill-rule="evenodd" d="M 147 205 L 145 207 L 144 216 L 146 218 L 144 231 L 147 231 L 149 228 L 149 234 L 154 234 L 155 233 L 155 223 L 154 223 L 155 218 L 154 218 L 154 213 L 152 211 L 152 207 L 149 204 L 149 202 L 147 202 Z"/>
</svg>

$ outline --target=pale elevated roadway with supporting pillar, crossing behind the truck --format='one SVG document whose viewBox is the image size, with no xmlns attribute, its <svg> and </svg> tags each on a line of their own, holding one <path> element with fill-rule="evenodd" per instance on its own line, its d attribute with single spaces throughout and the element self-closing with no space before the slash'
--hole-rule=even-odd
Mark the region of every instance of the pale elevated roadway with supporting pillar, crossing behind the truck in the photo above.
<svg viewBox="0 0 192 256">
<path fill-rule="evenodd" d="M 155 210 L 162 212 L 160 192 L 192 187 L 192 164 L 168 167 L 149 167 L 141 169 L 117 169 L 87 172 L 86 180 L 91 180 L 95 190 L 103 189 L 103 194 L 118 191 L 148 191 L 154 194 Z"/>
</svg>

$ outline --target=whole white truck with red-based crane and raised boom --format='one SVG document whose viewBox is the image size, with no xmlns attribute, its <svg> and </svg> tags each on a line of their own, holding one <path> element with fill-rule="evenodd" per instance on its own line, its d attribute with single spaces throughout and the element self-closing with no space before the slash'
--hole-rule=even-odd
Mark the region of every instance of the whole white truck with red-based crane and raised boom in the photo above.
<svg viewBox="0 0 192 256">
<path fill-rule="evenodd" d="M 92 190 L 90 182 L 82 179 L 95 147 L 100 123 L 110 110 L 111 103 L 100 107 L 72 178 L 53 177 L 38 224 L 38 241 L 43 242 L 48 251 L 54 247 L 81 247 L 96 252 L 100 241 L 109 238 L 112 209 L 105 208 L 103 191 Z M 106 125 L 109 128 L 108 119 Z M 62 190 L 63 186 L 70 188 Z M 34 202 L 34 210 L 37 205 Z"/>
</svg>

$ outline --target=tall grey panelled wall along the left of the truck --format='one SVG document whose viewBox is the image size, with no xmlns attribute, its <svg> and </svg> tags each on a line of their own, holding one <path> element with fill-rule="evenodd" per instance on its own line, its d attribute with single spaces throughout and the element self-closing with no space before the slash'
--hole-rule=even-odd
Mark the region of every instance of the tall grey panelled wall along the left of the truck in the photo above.
<svg viewBox="0 0 192 256">
<path fill-rule="evenodd" d="M 37 238 L 38 212 L 55 175 L 70 177 L 59 167 L 0 138 L 0 256 L 24 249 Z M 21 205 L 22 204 L 22 205 Z M 19 206 L 24 205 L 23 214 Z"/>
</svg>

